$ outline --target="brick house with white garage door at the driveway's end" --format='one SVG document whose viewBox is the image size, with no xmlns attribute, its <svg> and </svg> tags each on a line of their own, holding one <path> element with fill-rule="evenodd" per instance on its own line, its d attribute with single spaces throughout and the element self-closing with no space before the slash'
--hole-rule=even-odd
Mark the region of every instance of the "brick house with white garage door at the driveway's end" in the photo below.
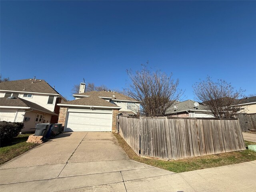
<svg viewBox="0 0 256 192">
<path fill-rule="evenodd" d="M 74 94 L 75 100 L 58 104 L 58 123 L 64 131 L 114 131 L 118 114 L 136 115 L 140 102 L 112 91 Z M 120 111 L 119 111 L 120 110 Z"/>
</svg>

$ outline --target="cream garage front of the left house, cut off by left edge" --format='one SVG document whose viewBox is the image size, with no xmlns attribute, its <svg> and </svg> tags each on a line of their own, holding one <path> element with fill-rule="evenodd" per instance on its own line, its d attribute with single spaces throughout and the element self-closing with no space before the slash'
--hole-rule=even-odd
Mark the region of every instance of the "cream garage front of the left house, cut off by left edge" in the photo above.
<svg viewBox="0 0 256 192">
<path fill-rule="evenodd" d="M 8 109 L 1 108 L 0 109 L 0 121 L 8 121 L 8 122 L 22 122 L 23 121 L 24 109 Z"/>
</svg>

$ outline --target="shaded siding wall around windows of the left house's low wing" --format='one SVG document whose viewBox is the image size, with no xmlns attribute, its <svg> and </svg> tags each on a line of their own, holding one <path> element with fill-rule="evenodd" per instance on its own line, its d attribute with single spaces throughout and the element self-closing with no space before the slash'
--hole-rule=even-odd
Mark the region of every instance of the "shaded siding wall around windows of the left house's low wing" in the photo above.
<svg viewBox="0 0 256 192">
<path fill-rule="evenodd" d="M 36 112 L 36 111 L 26 112 L 24 117 L 29 117 L 30 120 L 24 122 L 24 128 L 22 129 L 22 132 L 31 132 L 35 130 L 36 124 L 39 123 L 39 122 L 35 122 L 36 114 L 42 114 L 44 116 L 41 123 L 50 123 L 52 116 L 49 114 L 43 114 L 42 112 Z"/>
</svg>

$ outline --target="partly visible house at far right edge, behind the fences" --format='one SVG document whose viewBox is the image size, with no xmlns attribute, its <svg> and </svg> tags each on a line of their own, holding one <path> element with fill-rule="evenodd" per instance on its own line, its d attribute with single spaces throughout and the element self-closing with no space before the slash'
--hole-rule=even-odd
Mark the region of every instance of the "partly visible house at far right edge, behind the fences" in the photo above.
<svg viewBox="0 0 256 192">
<path fill-rule="evenodd" d="M 243 110 L 240 111 L 241 113 L 256 113 L 256 96 L 240 99 L 238 106 L 243 108 Z"/>
</svg>

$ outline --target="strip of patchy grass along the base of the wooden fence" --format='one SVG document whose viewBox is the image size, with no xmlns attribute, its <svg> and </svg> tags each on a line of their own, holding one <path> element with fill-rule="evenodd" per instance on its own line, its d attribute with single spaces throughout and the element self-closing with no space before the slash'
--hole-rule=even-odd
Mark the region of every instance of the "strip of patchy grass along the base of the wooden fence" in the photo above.
<svg viewBox="0 0 256 192">
<path fill-rule="evenodd" d="M 128 144 L 119 134 L 113 134 L 117 138 L 118 143 L 124 149 L 124 151 L 129 156 L 130 159 L 176 173 L 256 160 L 256 152 L 248 149 L 243 151 L 235 151 L 215 155 L 205 155 L 194 158 L 170 161 L 141 158 L 138 155 L 136 155 L 132 148 L 128 146 Z M 245 141 L 245 144 L 247 147 L 250 144 L 256 143 Z"/>
</svg>

